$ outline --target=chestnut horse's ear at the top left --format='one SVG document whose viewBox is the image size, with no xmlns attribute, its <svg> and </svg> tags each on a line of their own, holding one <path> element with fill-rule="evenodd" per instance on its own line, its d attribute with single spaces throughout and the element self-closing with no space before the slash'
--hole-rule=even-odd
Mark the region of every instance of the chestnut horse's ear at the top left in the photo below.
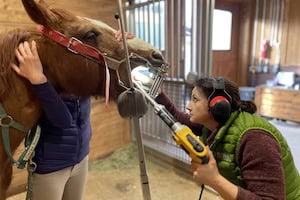
<svg viewBox="0 0 300 200">
<path fill-rule="evenodd" d="M 43 0 L 40 0 L 39 3 L 36 3 L 35 0 L 22 0 L 22 3 L 27 14 L 37 24 L 49 27 L 55 21 L 55 15 Z"/>
</svg>

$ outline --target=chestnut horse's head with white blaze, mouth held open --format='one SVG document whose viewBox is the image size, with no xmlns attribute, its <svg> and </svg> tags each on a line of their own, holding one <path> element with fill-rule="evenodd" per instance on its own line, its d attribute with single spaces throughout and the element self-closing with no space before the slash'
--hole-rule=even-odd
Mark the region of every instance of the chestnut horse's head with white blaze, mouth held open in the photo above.
<svg viewBox="0 0 300 200">
<path fill-rule="evenodd" d="M 116 30 L 97 20 L 77 17 L 62 9 L 50 9 L 43 1 L 36 3 L 34 0 L 22 0 L 22 2 L 31 19 L 47 29 L 46 35 L 55 35 L 58 32 L 67 39 L 72 38 L 70 40 L 72 44 L 68 43 L 67 47 L 45 35 L 35 38 L 44 72 L 59 91 L 80 96 L 104 96 L 107 77 L 105 65 L 109 67 L 111 76 L 111 96 L 115 98 L 123 91 L 119 85 L 118 74 L 127 84 L 128 72 L 123 43 L 114 37 Z M 80 47 L 81 52 L 78 54 L 76 47 L 74 50 L 72 46 L 73 43 L 75 46 L 81 42 L 84 45 Z M 161 53 L 142 40 L 128 40 L 128 48 L 130 53 L 145 58 L 154 67 L 164 63 Z M 84 51 L 87 55 L 84 55 Z"/>
</svg>

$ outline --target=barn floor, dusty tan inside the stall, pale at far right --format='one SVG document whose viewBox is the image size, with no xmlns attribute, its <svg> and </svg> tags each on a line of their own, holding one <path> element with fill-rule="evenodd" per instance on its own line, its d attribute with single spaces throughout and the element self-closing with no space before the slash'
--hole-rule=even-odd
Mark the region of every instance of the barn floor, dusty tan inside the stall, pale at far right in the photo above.
<svg viewBox="0 0 300 200">
<path fill-rule="evenodd" d="M 286 137 L 300 171 L 300 124 L 278 120 L 270 122 Z M 137 155 L 136 145 L 131 143 L 105 159 L 90 162 L 85 200 L 146 200 L 143 198 Z M 199 199 L 200 187 L 192 181 L 191 174 L 149 159 L 147 154 L 146 169 L 151 197 L 147 200 Z M 24 199 L 24 193 L 8 198 Z M 204 191 L 202 200 L 217 199 L 221 198 L 212 190 Z"/>
</svg>

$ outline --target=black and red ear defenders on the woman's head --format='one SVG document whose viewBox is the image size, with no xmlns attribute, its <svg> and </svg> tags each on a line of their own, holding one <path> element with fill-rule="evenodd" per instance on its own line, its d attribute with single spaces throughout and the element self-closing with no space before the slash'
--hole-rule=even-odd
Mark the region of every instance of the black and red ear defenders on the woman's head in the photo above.
<svg viewBox="0 0 300 200">
<path fill-rule="evenodd" d="M 213 118 L 224 124 L 231 115 L 231 96 L 225 90 L 223 78 L 213 79 L 213 92 L 208 97 L 208 110 Z"/>
</svg>

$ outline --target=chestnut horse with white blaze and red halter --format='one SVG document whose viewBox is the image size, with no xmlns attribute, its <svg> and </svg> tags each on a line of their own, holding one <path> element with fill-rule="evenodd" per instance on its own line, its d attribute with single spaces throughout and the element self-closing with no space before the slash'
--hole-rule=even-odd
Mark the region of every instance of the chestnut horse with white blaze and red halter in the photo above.
<svg viewBox="0 0 300 200">
<path fill-rule="evenodd" d="M 37 28 L 17 28 L 0 35 L 0 103 L 7 114 L 3 127 L 15 121 L 30 130 L 42 113 L 39 100 L 29 81 L 18 76 L 11 63 L 18 65 L 15 49 L 21 42 L 36 41 L 44 73 L 58 93 L 82 97 L 108 96 L 116 100 L 129 83 L 123 43 L 115 39 L 115 29 L 94 19 L 76 16 L 60 8 L 50 8 L 44 1 L 22 0 Z M 127 41 L 128 51 L 153 67 L 165 63 L 161 52 L 138 38 Z M 137 58 L 138 58 L 137 57 Z M 141 61 L 141 62 L 139 62 Z M 134 66 L 132 66 L 134 67 Z M 110 85 L 109 90 L 107 90 Z M 28 131 L 9 127 L 11 152 L 16 150 Z M 0 138 L 0 200 L 6 199 L 12 179 L 12 163 Z"/>
</svg>

